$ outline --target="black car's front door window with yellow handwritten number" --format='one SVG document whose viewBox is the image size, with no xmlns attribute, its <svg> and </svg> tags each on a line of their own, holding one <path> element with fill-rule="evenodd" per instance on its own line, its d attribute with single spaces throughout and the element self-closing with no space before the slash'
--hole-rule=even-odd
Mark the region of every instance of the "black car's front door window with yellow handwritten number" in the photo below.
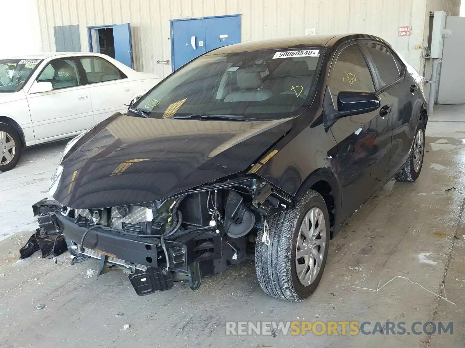
<svg viewBox="0 0 465 348">
<path fill-rule="evenodd" d="M 375 91 L 368 64 L 357 44 L 347 46 L 339 53 L 328 86 L 334 102 L 342 90 Z"/>
</svg>

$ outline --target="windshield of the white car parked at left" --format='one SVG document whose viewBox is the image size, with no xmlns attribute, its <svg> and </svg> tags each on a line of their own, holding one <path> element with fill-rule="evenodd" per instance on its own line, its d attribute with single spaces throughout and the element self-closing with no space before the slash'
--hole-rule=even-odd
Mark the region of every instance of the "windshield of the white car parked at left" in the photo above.
<svg viewBox="0 0 465 348">
<path fill-rule="evenodd" d="M 0 59 L 0 93 L 23 88 L 40 59 Z"/>
</svg>

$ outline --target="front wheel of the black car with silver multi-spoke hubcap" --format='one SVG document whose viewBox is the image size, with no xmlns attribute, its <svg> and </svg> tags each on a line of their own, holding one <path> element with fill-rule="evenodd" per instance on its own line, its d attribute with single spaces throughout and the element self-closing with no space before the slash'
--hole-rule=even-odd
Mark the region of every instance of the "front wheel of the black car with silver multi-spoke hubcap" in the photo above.
<svg viewBox="0 0 465 348">
<path fill-rule="evenodd" d="M 255 268 L 261 288 L 270 296 L 302 301 L 317 288 L 326 265 L 329 215 L 325 201 L 313 190 L 290 210 L 267 219 L 269 245 L 257 233 Z"/>
</svg>

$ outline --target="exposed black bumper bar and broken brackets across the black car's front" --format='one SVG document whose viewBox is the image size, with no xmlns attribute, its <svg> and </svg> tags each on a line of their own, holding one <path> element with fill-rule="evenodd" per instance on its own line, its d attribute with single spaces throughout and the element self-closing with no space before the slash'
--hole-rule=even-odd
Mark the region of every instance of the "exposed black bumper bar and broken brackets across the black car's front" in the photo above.
<svg viewBox="0 0 465 348">
<path fill-rule="evenodd" d="M 191 288 L 197 290 L 201 277 L 226 268 L 221 258 L 223 250 L 229 252 L 230 248 L 223 245 L 225 241 L 215 232 L 190 230 L 166 240 L 169 258 L 169 269 L 166 269 L 160 238 L 125 234 L 99 225 L 89 230 L 89 227 L 78 226 L 73 217 L 57 210 L 61 210 L 61 206 L 55 201 L 42 200 L 33 206 L 34 214 L 40 214 L 39 220 L 53 218 L 57 225 L 54 228 L 58 227 L 64 235 L 68 250 L 74 257 L 85 255 L 100 259 L 98 276 L 113 265 L 129 270 L 129 279 L 138 295 L 171 289 L 172 272 L 181 277 L 184 275 Z"/>
</svg>

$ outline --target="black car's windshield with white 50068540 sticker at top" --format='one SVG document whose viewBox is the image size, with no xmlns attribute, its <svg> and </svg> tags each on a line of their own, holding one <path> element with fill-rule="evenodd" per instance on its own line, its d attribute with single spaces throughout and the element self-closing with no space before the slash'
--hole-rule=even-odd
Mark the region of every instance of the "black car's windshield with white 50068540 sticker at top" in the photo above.
<svg viewBox="0 0 465 348">
<path fill-rule="evenodd" d="M 323 48 L 207 54 L 134 105 L 152 118 L 236 115 L 286 118 L 308 105 Z"/>
</svg>

